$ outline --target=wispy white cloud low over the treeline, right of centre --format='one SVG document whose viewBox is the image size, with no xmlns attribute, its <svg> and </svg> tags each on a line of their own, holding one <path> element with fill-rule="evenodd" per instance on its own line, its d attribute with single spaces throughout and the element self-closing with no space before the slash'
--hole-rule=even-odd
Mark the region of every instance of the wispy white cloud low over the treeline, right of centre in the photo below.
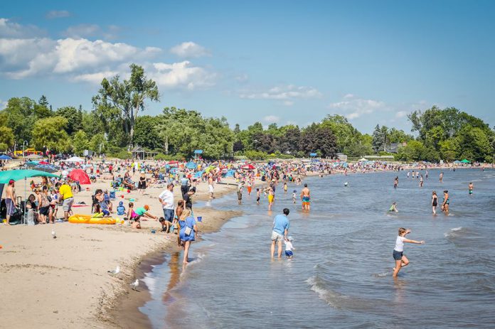
<svg viewBox="0 0 495 329">
<path fill-rule="evenodd" d="M 363 114 L 372 114 L 380 110 L 387 110 L 385 102 L 374 99 L 362 99 L 352 94 L 347 94 L 340 102 L 331 103 L 330 109 L 336 109 L 344 113 L 347 119 L 356 119 Z"/>
</svg>

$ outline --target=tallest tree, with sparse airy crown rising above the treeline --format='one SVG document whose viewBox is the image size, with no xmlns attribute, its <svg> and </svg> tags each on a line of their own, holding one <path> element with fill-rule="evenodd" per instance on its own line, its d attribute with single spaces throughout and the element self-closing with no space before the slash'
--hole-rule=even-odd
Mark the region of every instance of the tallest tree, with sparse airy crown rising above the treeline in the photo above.
<svg viewBox="0 0 495 329">
<path fill-rule="evenodd" d="M 131 77 L 129 80 L 119 81 L 119 75 L 109 80 L 104 78 L 98 94 L 92 98 L 95 108 L 117 109 L 124 120 L 124 131 L 134 137 L 134 126 L 140 111 L 144 111 L 144 102 L 149 99 L 153 102 L 160 100 L 156 82 L 147 79 L 144 69 L 136 64 L 131 64 Z"/>
</svg>

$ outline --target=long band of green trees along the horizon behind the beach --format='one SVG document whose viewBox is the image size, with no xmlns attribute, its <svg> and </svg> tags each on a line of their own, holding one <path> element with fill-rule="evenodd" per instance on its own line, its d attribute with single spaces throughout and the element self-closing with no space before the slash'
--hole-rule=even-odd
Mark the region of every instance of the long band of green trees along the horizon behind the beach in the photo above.
<svg viewBox="0 0 495 329">
<path fill-rule="evenodd" d="M 328 115 L 321 122 L 299 127 L 270 124 L 265 129 L 255 122 L 246 129 L 233 129 L 222 117 L 208 118 L 186 109 L 166 107 L 156 116 L 142 115 L 145 101 L 158 101 L 156 84 L 144 70 L 131 65 L 129 80 L 118 76 L 103 79 L 93 108 L 52 109 L 42 96 L 38 102 L 28 97 L 9 99 L 0 111 L 0 151 L 29 147 L 75 153 L 85 149 L 119 158 L 129 157 L 129 146 L 142 146 L 159 153 L 159 158 L 188 158 L 196 149 L 207 158 L 303 157 L 317 153 L 334 157 L 390 154 L 402 161 L 491 161 L 495 132 L 481 119 L 454 108 L 432 107 L 415 111 L 408 118 L 417 131 L 415 138 L 402 130 L 376 126 L 372 135 L 361 134 L 341 115 Z"/>
</svg>

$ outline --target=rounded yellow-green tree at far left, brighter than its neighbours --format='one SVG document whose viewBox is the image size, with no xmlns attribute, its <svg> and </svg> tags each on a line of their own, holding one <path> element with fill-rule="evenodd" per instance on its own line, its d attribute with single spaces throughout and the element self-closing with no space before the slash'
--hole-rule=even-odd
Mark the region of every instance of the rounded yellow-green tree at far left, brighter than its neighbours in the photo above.
<svg viewBox="0 0 495 329">
<path fill-rule="evenodd" d="M 33 145 L 40 150 L 46 148 L 50 151 L 69 151 L 72 146 L 70 137 L 65 131 L 67 124 L 67 119 L 64 117 L 38 120 L 33 128 Z"/>
</svg>

